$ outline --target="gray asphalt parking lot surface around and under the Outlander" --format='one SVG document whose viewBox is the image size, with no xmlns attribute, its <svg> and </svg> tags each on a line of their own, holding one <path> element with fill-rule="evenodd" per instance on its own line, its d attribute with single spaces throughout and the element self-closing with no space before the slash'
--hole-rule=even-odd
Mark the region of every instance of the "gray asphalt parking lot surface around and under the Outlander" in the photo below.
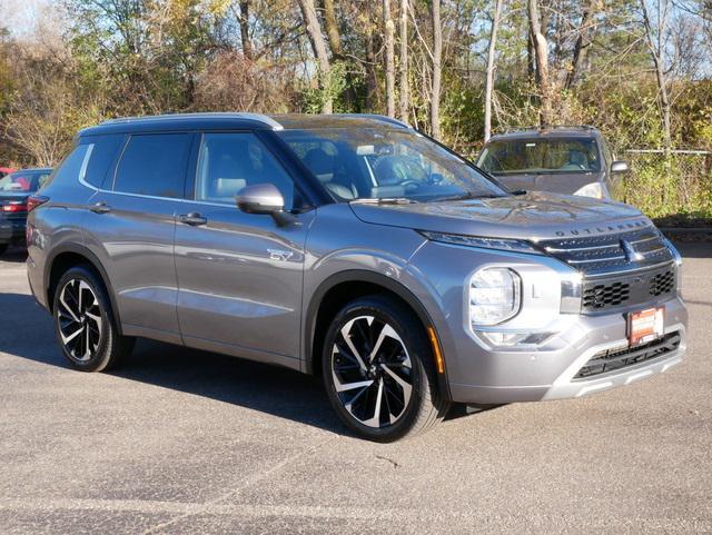
<svg viewBox="0 0 712 535">
<path fill-rule="evenodd" d="M 69 369 L 0 258 L 0 534 L 712 533 L 712 244 L 682 245 L 690 350 L 594 397 L 349 436 L 318 384 L 141 341 Z"/>
</svg>

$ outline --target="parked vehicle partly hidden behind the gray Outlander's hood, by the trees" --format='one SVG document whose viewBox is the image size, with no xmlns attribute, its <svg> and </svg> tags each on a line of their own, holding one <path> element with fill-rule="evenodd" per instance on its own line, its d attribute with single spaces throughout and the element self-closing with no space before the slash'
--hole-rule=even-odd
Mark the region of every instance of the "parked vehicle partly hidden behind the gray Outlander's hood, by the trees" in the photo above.
<svg viewBox="0 0 712 535">
<path fill-rule="evenodd" d="M 547 127 L 493 136 L 477 166 L 510 189 L 621 197 L 627 162 L 616 160 L 593 127 Z"/>
</svg>

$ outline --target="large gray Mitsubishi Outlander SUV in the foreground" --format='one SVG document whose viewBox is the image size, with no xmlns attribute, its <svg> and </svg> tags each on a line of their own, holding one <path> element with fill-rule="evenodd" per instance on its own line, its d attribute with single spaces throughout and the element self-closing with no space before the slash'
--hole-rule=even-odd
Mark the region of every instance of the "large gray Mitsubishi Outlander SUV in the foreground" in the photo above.
<svg viewBox="0 0 712 535">
<path fill-rule="evenodd" d="M 135 337 L 286 366 L 374 440 L 685 351 L 680 256 L 637 210 L 511 194 L 385 117 L 111 120 L 29 205 L 30 285 L 73 367 Z"/>
</svg>

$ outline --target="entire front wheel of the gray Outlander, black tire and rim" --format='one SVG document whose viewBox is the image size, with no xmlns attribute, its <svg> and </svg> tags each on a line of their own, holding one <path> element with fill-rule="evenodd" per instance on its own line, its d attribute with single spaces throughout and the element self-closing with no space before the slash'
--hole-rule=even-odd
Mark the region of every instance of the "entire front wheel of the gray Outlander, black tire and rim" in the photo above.
<svg viewBox="0 0 712 535">
<path fill-rule="evenodd" d="M 370 317 L 374 319 L 369 323 Z M 386 326 L 396 336 L 384 337 Z M 348 329 L 350 346 L 343 329 Z M 380 349 L 366 361 L 378 339 L 383 340 Z M 356 348 L 359 343 L 360 349 Z M 354 358 L 352 347 L 364 356 Z M 388 443 L 415 436 L 441 422 L 449 408 L 437 386 L 424 328 L 413 311 L 395 299 L 368 296 L 346 305 L 326 334 L 322 364 L 329 403 L 344 424 L 363 438 Z M 362 386 L 348 388 L 368 382 L 372 384 L 363 386 L 363 392 Z M 412 388 L 406 396 L 404 385 L 408 383 Z"/>
</svg>

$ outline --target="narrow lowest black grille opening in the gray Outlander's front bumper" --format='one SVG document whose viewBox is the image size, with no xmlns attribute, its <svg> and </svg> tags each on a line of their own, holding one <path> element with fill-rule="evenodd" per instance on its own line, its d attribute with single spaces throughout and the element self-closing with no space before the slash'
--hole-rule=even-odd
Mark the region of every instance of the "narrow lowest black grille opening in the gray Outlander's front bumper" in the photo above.
<svg viewBox="0 0 712 535">
<path fill-rule="evenodd" d="M 583 368 L 574 376 L 574 379 L 587 379 L 592 376 L 625 368 L 655 357 L 661 357 L 680 347 L 680 333 L 670 333 L 647 344 L 634 347 L 606 349 L 596 353 Z"/>
</svg>

